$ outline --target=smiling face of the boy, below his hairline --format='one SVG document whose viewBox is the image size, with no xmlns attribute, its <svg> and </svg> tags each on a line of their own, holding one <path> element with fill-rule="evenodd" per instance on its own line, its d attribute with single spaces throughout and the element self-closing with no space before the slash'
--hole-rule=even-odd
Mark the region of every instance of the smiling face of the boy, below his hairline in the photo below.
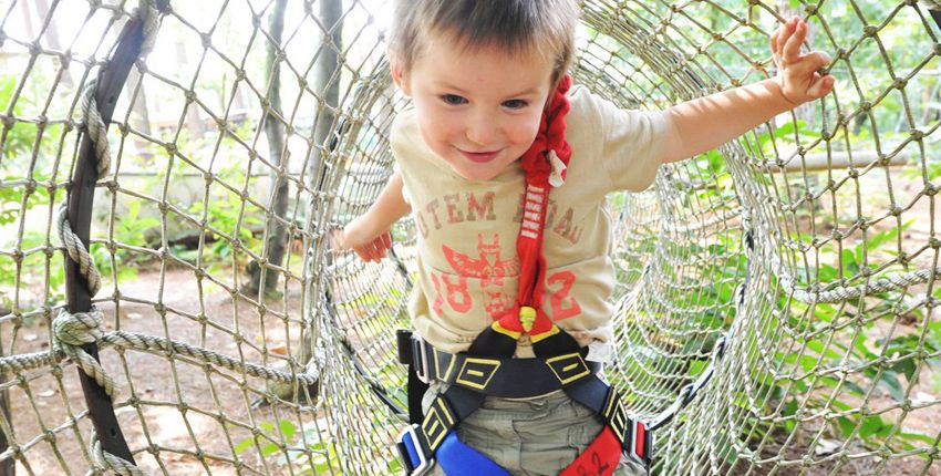
<svg viewBox="0 0 941 476">
<path fill-rule="evenodd" d="M 412 97 L 425 143 L 459 176 L 489 180 L 532 144 L 552 62 L 492 46 L 464 49 L 448 34 L 393 77 Z"/>
</svg>

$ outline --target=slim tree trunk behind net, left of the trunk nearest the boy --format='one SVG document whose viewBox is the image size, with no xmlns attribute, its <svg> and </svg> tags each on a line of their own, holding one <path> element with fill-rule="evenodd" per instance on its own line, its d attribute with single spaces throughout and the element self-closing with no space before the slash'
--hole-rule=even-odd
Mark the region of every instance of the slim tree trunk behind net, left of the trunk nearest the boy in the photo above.
<svg viewBox="0 0 941 476">
<path fill-rule="evenodd" d="M 271 188 L 268 193 L 268 207 L 271 210 L 266 217 L 266 242 L 267 262 L 254 262 L 248 267 L 249 272 L 249 292 L 258 292 L 262 288 L 263 269 L 263 292 L 272 294 L 275 286 L 278 283 L 278 272 L 267 263 L 281 266 L 285 259 L 285 247 L 287 246 L 287 227 L 285 226 L 286 215 L 288 211 L 288 180 L 285 175 L 288 174 L 288 159 L 285 151 L 285 125 L 281 123 L 283 114 L 281 112 L 281 66 L 278 60 L 281 51 L 281 33 L 285 30 L 285 8 L 287 0 L 276 0 L 275 9 L 271 11 L 269 21 L 269 31 L 271 41 L 268 43 L 268 59 L 266 61 L 266 70 L 268 77 L 268 108 L 262 115 L 262 124 L 265 126 L 265 135 L 268 137 L 268 154 L 271 164 L 277 167 L 270 170 Z M 266 256 L 266 253 L 262 253 Z"/>
</svg>

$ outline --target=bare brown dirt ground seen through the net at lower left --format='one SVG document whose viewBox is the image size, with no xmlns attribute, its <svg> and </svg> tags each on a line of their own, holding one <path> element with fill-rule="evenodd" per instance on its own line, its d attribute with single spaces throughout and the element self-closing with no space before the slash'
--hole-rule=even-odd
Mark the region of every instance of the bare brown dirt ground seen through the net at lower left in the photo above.
<svg viewBox="0 0 941 476">
<path fill-rule="evenodd" d="M 136 279 L 121 282 L 123 299 L 120 307 L 116 308 L 114 302 L 99 304 L 106 315 L 108 329 L 113 329 L 113 317 L 117 312 L 123 330 L 168 335 L 174 340 L 238 358 L 239 346 L 230 333 L 237 321 L 240 334 L 249 343 L 260 346 L 263 342 L 273 354 L 286 353 L 285 324 L 280 319 L 269 317 L 262 334 L 256 308 L 240 300 L 240 317 L 236 319 L 232 297 L 220 292 L 221 288 L 218 287 L 214 292 L 203 294 L 200 306 L 196 280 L 186 269 L 170 269 L 165 275 L 161 302 L 168 310 L 176 311 L 168 311 L 166 320 L 155 310 L 154 304 L 132 302 L 157 302 L 159 280 L 159 272 L 142 271 Z M 99 296 L 107 296 L 107 289 L 105 287 Z M 266 306 L 275 311 L 287 310 L 296 321 L 301 312 L 299 287 L 292 286 L 286 299 L 270 300 Z M 198 314 L 200 310 L 218 328 L 207 325 L 204 332 L 201 325 L 180 315 Z M 45 350 L 49 345 L 46 337 L 44 323 L 38 321 L 22 334 L 22 340 L 33 349 L 17 351 Z M 247 361 L 259 363 L 258 353 L 248 345 L 241 345 L 241 353 Z M 288 474 L 282 466 L 272 464 L 277 459 L 275 457 L 261 462 L 256 447 L 245 443 L 251 433 L 234 425 L 251 426 L 254 422 L 262 426 L 263 433 L 278 438 L 276 430 L 270 426 L 265 430 L 266 424 L 281 420 L 307 422 L 314 416 L 310 411 L 292 413 L 286 411 L 286 407 L 251 408 L 258 397 L 257 393 L 242 391 L 232 380 L 218 373 L 207 373 L 197 365 L 180 361 L 170 365 L 165 358 L 135 351 L 118 353 L 113 348 L 103 349 L 101 356 L 105 370 L 115 377 L 121 389 L 115 412 L 121 428 L 132 452 L 144 449 L 135 454 L 135 459 L 151 474 L 236 474 L 236 455 L 245 464 L 239 474 Z M 270 364 L 278 366 L 278 362 Z M 69 365 L 61 371 L 61 384 L 54 375 L 46 373 L 27 377 L 30 381 L 28 392 L 20 386 L 11 389 L 13 424 L 19 443 L 25 445 L 34 435 L 43 435 L 44 432 L 51 435 L 24 451 L 24 457 L 18 464 L 18 475 L 81 475 L 89 469 L 85 447 L 91 424 L 86 417 L 80 418 L 77 424 L 72 423 L 85 408 L 76 372 L 73 365 Z M 254 381 L 250 385 L 258 389 L 259 383 Z M 139 401 L 136 406 L 128 404 L 132 386 Z M 192 410 L 180 412 L 180 405 Z M 226 424 L 220 423 L 218 414 L 226 415 Z M 80 444 L 79 438 L 84 443 Z M 161 463 L 146 452 L 149 442 L 159 446 Z M 196 452 L 200 451 L 208 456 L 205 463 L 195 457 Z"/>
</svg>

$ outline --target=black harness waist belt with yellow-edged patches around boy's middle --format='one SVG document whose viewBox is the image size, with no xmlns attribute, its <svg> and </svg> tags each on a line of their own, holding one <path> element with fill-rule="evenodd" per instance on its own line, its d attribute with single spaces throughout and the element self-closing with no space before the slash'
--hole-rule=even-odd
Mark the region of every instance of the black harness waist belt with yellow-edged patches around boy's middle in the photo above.
<svg viewBox="0 0 941 476">
<path fill-rule="evenodd" d="M 562 390 L 592 376 L 601 364 L 585 360 L 588 350 L 548 359 L 498 359 L 435 349 L 417 334 L 399 332 L 399 359 L 412 364 L 423 382 L 437 380 L 490 396 L 527 399 Z"/>
</svg>

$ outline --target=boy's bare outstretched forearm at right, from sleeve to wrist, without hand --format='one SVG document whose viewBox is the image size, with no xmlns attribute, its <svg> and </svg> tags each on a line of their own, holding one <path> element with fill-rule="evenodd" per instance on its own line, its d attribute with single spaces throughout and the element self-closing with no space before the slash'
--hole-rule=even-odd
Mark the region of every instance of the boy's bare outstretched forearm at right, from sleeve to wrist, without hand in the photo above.
<svg viewBox="0 0 941 476">
<path fill-rule="evenodd" d="M 797 105 L 773 79 L 678 104 L 669 110 L 663 162 L 711 151 Z"/>
</svg>

